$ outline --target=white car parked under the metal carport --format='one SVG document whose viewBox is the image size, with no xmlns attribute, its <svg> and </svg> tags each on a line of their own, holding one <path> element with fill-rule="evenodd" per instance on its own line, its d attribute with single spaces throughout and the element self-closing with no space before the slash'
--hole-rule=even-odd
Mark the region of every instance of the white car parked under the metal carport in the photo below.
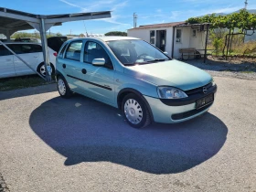
<svg viewBox="0 0 256 192">
<path fill-rule="evenodd" d="M 38 43 L 6 42 L 5 45 L 11 48 L 21 59 L 24 59 L 33 69 L 36 69 L 42 76 L 46 76 L 42 46 Z M 57 53 L 48 48 L 51 73 L 55 72 Z M 9 78 L 22 75 L 35 74 L 20 59 L 13 55 L 7 48 L 0 45 L 0 78 Z"/>
</svg>

